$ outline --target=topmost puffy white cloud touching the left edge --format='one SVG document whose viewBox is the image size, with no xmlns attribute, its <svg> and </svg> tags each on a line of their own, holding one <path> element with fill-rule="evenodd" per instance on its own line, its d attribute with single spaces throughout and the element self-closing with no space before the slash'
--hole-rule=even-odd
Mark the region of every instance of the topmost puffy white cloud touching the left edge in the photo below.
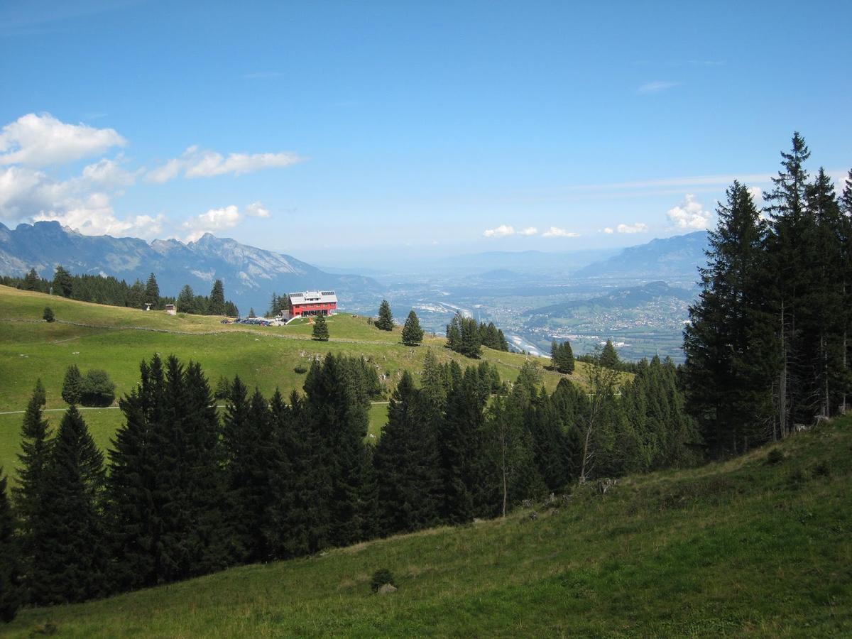
<svg viewBox="0 0 852 639">
<path fill-rule="evenodd" d="M 47 166 L 100 155 L 127 141 L 114 129 L 66 124 L 49 113 L 28 113 L 0 132 L 0 164 Z"/>
</svg>

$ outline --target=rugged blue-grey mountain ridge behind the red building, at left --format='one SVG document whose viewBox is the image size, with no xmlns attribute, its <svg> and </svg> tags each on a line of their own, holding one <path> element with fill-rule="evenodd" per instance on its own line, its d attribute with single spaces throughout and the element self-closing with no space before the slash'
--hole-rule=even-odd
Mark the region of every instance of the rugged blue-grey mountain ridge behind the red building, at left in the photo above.
<svg viewBox="0 0 852 639">
<path fill-rule="evenodd" d="M 378 283 L 361 275 L 325 273 L 295 257 L 243 245 L 234 239 L 205 233 L 184 244 L 176 239 L 83 235 L 59 222 L 20 224 L 14 230 L 0 223 L 0 275 L 17 275 L 35 268 L 52 278 L 57 265 L 72 273 L 112 275 L 132 283 L 156 273 L 160 292 L 174 295 L 188 284 L 207 295 L 222 279 L 226 296 L 240 311 L 266 310 L 273 291 L 335 289 L 343 303 L 364 293 L 376 294 Z"/>
</svg>

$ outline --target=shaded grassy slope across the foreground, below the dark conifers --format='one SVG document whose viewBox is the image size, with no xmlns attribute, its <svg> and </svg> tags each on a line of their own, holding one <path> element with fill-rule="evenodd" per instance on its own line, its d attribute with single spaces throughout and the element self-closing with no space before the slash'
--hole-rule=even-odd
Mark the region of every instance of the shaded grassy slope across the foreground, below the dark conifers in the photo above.
<svg viewBox="0 0 852 639">
<path fill-rule="evenodd" d="M 605 494 L 580 486 L 506 520 L 24 610 L 0 632 L 849 636 L 850 452 L 844 417 L 725 463 L 627 477 Z M 398 592 L 371 594 L 380 568 Z"/>
</svg>

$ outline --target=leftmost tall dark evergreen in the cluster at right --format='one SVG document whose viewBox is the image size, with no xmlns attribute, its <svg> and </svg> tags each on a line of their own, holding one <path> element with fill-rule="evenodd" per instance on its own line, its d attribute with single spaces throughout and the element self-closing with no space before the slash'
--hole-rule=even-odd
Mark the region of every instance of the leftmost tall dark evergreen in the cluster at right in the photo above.
<svg viewBox="0 0 852 639">
<path fill-rule="evenodd" d="M 766 227 L 739 181 L 717 208 L 699 302 L 689 309 L 684 367 L 690 412 L 717 454 L 771 436 L 778 345 L 767 303 Z"/>
</svg>

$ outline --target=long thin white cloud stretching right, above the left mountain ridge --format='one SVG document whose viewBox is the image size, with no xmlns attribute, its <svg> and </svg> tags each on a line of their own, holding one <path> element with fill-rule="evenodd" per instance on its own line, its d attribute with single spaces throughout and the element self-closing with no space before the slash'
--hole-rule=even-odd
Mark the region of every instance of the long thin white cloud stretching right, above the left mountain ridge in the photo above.
<svg viewBox="0 0 852 639">
<path fill-rule="evenodd" d="M 230 153 L 227 158 L 222 153 L 206 151 L 199 147 L 188 147 L 180 158 L 172 158 L 162 166 L 148 171 L 147 181 L 163 183 L 173 180 L 181 173 L 184 177 L 211 177 L 233 173 L 244 173 L 269 169 L 276 166 L 290 166 L 301 162 L 296 153 Z"/>
</svg>

